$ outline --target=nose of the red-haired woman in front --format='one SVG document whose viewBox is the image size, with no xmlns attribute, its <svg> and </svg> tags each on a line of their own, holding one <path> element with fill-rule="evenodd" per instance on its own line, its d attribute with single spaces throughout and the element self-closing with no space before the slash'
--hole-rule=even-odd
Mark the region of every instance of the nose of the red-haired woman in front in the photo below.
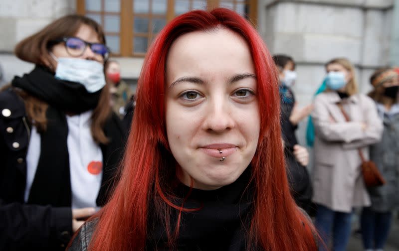
<svg viewBox="0 0 399 251">
<path fill-rule="evenodd" d="M 229 103 L 225 99 L 210 100 L 207 103 L 203 129 L 223 132 L 234 127 L 234 119 Z"/>
</svg>

